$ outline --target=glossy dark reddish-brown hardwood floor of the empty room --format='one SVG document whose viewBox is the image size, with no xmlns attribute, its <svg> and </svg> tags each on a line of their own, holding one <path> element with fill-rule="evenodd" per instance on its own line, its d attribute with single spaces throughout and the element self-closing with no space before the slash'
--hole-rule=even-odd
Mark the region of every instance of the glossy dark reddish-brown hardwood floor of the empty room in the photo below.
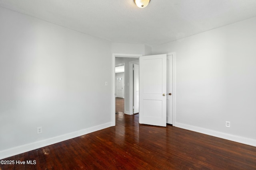
<svg viewBox="0 0 256 170">
<path fill-rule="evenodd" d="M 116 114 L 116 126 L 12 156 L 34 165 L 0 170 L 256 170 L 256 147 L 168 125 L 139 125 Z"/>
</svg>

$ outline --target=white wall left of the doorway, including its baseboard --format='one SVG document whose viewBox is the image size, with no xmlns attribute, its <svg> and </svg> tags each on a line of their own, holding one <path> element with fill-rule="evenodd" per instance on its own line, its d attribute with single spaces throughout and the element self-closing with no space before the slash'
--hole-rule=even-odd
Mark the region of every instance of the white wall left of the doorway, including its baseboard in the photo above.
<svg viewBox="0 0 256 170">
<path fill-rule="evenodd" d="M 0 159 L 111 125 L 110 42 L 4 8 L 0 25 Z"/>
</svg>

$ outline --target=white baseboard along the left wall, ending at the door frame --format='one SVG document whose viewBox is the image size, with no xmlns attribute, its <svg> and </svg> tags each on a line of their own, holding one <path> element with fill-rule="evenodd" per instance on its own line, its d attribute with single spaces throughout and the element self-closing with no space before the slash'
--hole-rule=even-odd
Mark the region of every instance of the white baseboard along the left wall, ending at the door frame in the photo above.
<svg viewBox="0 0 256 170">
<path fill-rule="evenodd" d="M 46 147 L 48 145 L 52 145 L 52 144 L 55 144 L 55 143 L 66 141 L 68 139 L 72 139 L 72 138 L 75 138 L 75 137 L 86 135 L 88 133 L 99 131 L 101 129 L 105 129 L 105 128 L 108 128 L 108 127 L 111 127 L 111 126 L 112 126 L 111 122 L 109 122 L 109 123 L 105 123 L 105 124 L 102 124 L 102 125 L 89 127 L 87 129 L 82 129 L 80 131 L 75 131 L 75 132 L 60 135 L 60 136 L 57 136 L 57 137 L 52 137 L 52 138 L 45 139 L 45 140 L 42 140 L 42 141 L 36 141 L 36 142 L 33 142 L 33 143 L 28 143 L 26 145 L 20 145 L 18 147 L 13 147 L 13 148 L 10 148 L 10 149 L 1 150 L 0 151 L 0 159 L 4 159 L 4 158 L 8 158 L 10 156 L 14 156 L 14 155 L 17 155 L 17 154 L 28 152 L 30 150 Z"/>
</svg>

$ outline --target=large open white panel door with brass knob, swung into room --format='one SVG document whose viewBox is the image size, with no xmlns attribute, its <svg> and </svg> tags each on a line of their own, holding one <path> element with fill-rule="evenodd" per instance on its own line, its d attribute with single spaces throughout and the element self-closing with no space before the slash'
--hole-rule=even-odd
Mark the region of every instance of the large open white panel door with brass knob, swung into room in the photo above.
<svg viewBox="0 0 256 170">
<path fill-rule="evenodd" d="M 140 57 L 139 123 L 166 127 L 166 54 Z"/>
</svg>

